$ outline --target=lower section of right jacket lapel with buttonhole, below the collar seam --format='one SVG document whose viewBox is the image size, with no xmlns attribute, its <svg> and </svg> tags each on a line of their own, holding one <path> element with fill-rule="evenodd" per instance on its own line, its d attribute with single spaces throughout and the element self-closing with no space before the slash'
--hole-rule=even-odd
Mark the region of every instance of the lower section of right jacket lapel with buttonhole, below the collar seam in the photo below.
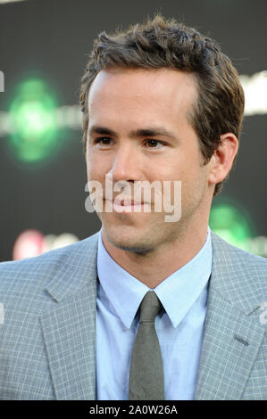
<svg viewBox="0 0 267 419">
<path fill-rule="evenodd" d="M 239 400 L 264 329 L 210 290 L 196 400 Z"/>
</svg>

